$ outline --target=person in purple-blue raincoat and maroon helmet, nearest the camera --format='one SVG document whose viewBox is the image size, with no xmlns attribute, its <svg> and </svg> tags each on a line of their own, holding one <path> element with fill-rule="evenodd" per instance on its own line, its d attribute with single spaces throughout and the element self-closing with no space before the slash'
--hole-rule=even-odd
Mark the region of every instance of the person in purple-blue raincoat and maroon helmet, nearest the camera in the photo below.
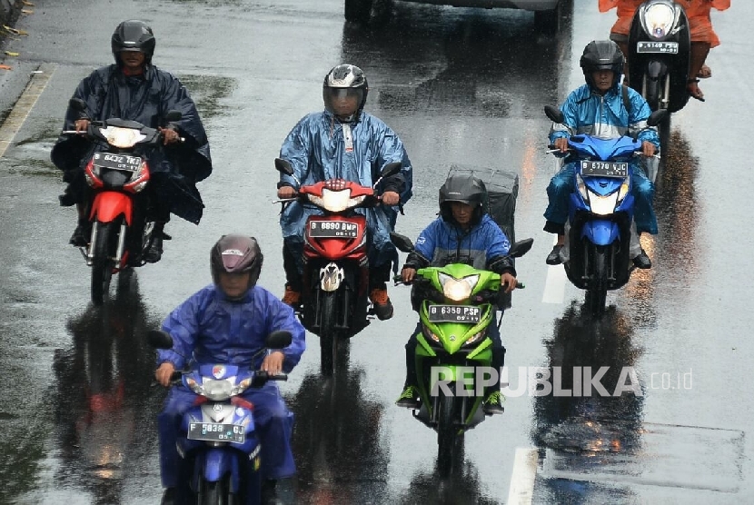
<svg viewBox="0 0 754 505">
<path fill-rule="evenodd" d="M 271 374 L 289 372 L 306 347 L 304 330 L 288 305 L 257 286 L 263 255 L 253 237 L 223 235 L 213 245 L 210 265 L 213 284 L 194 293 L 163 323 L 173 337 L 173 349 L 159 350 L 154 376 L 163 386 L 171 374 L 184 369 L 188 361 L 231 363 Z M 272 332 L 288 331 L 293 342 L 283 350 L 254 356 L 264 348 Z M 295 472 L 291 451 L 293 413 L 288 411 L 274 382 L 250 388 L 241 395 L 254 406 L 254 422 L 262 442 L 263 493 L 274 495 L 277 480 Z M 175 449 L 182 414 L 196 395 L 183 385 L 173 387 L 158 416 L 160 472 L 165 488 L 163 503 L 173 503 L 178 480 L 178 452 Z"/>
</svg>

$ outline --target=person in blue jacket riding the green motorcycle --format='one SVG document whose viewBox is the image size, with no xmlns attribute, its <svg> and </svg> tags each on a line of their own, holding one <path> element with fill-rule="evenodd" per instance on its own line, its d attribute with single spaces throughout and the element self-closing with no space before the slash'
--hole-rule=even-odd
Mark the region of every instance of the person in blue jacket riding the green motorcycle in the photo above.
<svg viewBox="0 0 754 505">
<path fill-rule="evenodd" d="M 511 243 L 501 228 L 484 212 L 486 188 L 480 179 L 471 174 L 452 174 L 440 188 L 440 216 L 424 228 L 416 239 L 416 253 L 410 253 L 403 265 L 403 282 L 411 282 L 416 271 L 425 266 L 445 266 L 454 262 L 470 264 L 474 268 L 489 270 L 501 275 L 501 289 L 512 292 L 516 288 L 516 269 L 513 260 L 506 257 Z M 420 256 L 421 254 L 421 256 Z M 423 256 L 423 258 L 422 258 Z M 430 260 L 430 264 L 424 260 Z M 413 297 L 412 297 L 413 298 Z M 416 307 L 414 307 L 416 308 Z M 418 409 L 419 389 L 416 384 L 416 335 L 422 332 L 422 322 L 406 343 L 406 381 L 396 405 Z M 500 329 L 492 322 L 489 326 L 492 340 L 492 367 L 500 371 L 505 361 Z M 504 397 L 498 382 L 487 388 L 483 410 L 488 414 L 501 414 Z"/>
</svg>

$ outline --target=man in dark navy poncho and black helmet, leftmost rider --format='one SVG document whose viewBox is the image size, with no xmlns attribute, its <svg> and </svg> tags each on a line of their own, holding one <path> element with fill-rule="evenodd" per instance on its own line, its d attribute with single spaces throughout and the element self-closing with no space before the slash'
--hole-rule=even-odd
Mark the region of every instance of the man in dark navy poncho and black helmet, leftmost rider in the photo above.
<svg viewBox="0 0 754 505">
<path fill-rule="evenodd" d="M 178 78 L 152 63 L 155 44 L 152 29 L 143 21 L 117 25 L 111 38 L 115 64 L 94 70 L 78 84 L 74 98 L 84 100 L 85 114 L 69 106 L 63 128 L 85 132 L 90 120 L 120 117 L 157 128 L 164 135 L 165 148 L 150 153 L 150 182 L 139 193 L 147 199 L 148 217 L 154 220 L 153 242 L 144 257 L 147 262 L 157 262 L 162 256 L 163 239 L 170 238 L 164 224 L 171 212 L 199 223 L 203 203 L 195 183 L 212 173 L 207 135 L 196 105 Z M 180 111 L 182 119 L 164 124 L 162 117 L 169 110 Z M 76 205 L 78 225 L 70 243 L 80 247 L 89 243 L 91 234 L 87 209 L 91 189 L 84 181 L 84 166 L 94 149 L 96 145 L 83 135 L 61 135 L 51 153 L 68 183 L 60 204 Z"/>
</svg>

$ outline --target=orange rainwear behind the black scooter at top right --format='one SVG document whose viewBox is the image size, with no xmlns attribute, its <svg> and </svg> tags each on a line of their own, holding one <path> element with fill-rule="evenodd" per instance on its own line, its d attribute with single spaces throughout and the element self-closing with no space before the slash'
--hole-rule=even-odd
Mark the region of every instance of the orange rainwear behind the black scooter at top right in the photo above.
<svg viewBox="0 0 754 505">
<path fill-rule="evenodd" d="M 644 0 L 599 0 L 600 13 L 617 7 L 618 21 L 610 29 L 612 34 L 629 35 L 633 14 Z M 711 47 L 719 45 L 718 35 L 712 29 L 709 12 L 715 8 L 724 11 L 730 0 L 676 0 L 686 10 L 692 42 L 706 42 Z"/>
</svg>

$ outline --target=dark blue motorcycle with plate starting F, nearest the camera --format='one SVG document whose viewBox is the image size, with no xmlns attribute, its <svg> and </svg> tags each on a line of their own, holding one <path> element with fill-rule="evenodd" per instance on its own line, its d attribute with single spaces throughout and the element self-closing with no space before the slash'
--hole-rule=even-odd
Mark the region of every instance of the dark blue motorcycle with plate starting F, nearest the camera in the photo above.
<svg viewBox="0 0 754 505">
<path fill-rule="evenodd" d="M 148 342 L 157 349 L 173 348 L 173 338 L 151 331 Z M 291 344 L 290 332 L 273 332 L 265 349 Z M 253 405 L 239 395 L 261 388 L 267 381 L 286 381 L 287 374 L 243 370 L 230 364 L 194 364 L 174 371 L 171 381 L 183 383 L 198 395 L 184 413 L 178 430 L 177 450 L 182 457 L 176 503 L 197 505 L 261 503 L 261 445 L 256 435 Z"/>
</svg>

